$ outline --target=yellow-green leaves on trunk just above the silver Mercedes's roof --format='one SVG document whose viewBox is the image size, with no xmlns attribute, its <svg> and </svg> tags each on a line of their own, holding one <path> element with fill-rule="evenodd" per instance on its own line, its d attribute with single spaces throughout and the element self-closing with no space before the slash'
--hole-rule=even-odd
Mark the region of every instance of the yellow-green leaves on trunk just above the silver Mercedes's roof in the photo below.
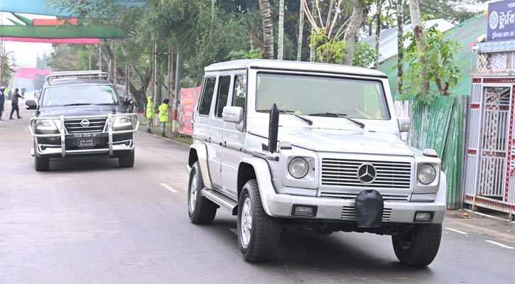
<svg viewBox="0 0 515 284">
<path fill-rule="evenodd" d="M 345 40 L 327 38 L 325 28 L 319 28 L 318 33 L 309 36 L 310 47 L 316 48 L 318 59 L 321 62 L 341 64 L 345 56 L 347 43 Z"/>
</svg>

